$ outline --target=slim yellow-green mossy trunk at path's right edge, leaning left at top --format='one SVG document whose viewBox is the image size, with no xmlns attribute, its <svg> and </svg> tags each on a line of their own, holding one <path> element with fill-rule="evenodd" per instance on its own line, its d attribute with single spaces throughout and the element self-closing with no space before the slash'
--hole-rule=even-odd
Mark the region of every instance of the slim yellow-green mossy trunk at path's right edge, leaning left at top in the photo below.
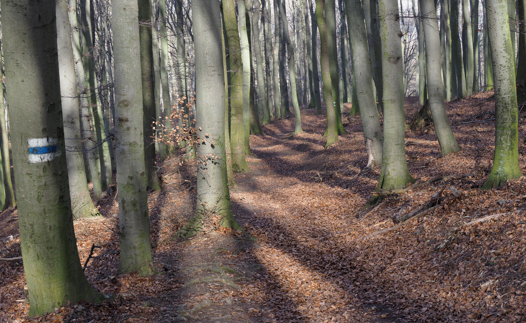
<svg viewBox="0 0 526 323">
<path fill-rule="evenodd" d="M 325 99 L 325 108 L 327 110 L 327 143 L 325 147 L 338 141 L 338 129 L 336 127 L 335 109 L 332 105 L 332 79 L 330 75 L 329 64 L 329 34 L 327 32 L 327 23 L 324 16 L 323 8 L 325 0 L 316 0 L 316 20 L 320 32 L 320 67 L 321 78 L 323 80 L 323 98 Z"/>
</svg>

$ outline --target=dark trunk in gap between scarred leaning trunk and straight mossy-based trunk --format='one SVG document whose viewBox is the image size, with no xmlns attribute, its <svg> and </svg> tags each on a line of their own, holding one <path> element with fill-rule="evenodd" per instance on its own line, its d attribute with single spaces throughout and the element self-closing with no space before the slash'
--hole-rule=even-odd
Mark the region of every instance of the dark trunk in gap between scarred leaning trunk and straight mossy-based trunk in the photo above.
<svg viewBox="0 0 526 323">
<path fill-rule="evenodd" d="M 376 101 L 383 111 L 382 50 L 380 47 L 380 22 L 378 0 L 363 0 L 363 14 L 367 28 L 369 56 L 371 57 L 372 78 L 375 81 Z"/>
</svg>

